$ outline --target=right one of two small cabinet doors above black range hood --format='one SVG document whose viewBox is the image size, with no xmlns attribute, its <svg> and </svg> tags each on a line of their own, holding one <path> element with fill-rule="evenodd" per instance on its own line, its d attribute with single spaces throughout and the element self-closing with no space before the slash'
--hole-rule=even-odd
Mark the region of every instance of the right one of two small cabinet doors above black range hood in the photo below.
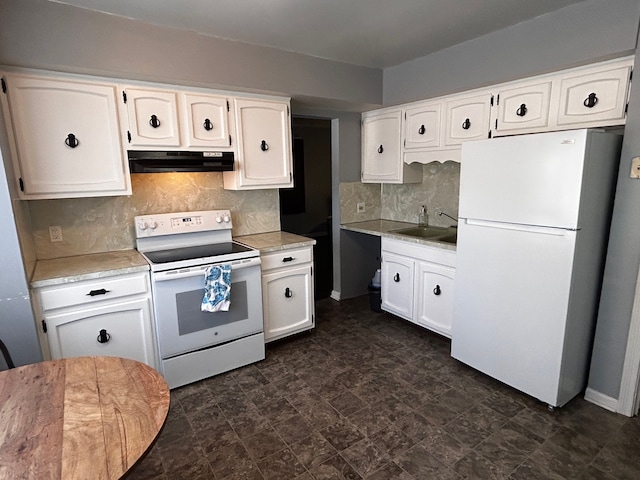
<svg viewBox="0 0 640 480">
<path fill-rule="evenodd" d="M 229 101 L 212 95 L 181 95 L 186 148 L 229 147 Z"/>
</svg>

